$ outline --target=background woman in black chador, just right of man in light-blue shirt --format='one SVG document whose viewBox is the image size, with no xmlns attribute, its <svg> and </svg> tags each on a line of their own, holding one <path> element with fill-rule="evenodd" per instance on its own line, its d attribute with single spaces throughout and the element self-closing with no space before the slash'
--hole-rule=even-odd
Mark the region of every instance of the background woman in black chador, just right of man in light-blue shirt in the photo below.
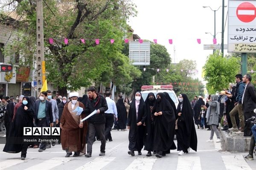
<svg viewBox="0 0 256 170">
<path fill-rule="evenodd" d="M 117 129 L 125 131 L 126 129 L 126 108 L 123 99 L 118 99 L 116 102 L 116 110 L 118 115 Z"/>
</svg>

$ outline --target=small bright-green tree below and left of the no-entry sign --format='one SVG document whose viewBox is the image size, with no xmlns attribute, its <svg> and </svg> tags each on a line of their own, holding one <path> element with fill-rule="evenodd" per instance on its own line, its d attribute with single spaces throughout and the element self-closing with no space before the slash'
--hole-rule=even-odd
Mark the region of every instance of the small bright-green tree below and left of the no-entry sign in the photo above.
<svg viewBox="0 0 256 170">
<path fill-rule="evenodd" d="M 204 79 L 209 94 L 227 88 L 230 82 L 234 82 L 239 69 L 239 59 L 236 57 L 221 57 L 218 53 L 209 55 L 204 65 Z"/>
</svg>

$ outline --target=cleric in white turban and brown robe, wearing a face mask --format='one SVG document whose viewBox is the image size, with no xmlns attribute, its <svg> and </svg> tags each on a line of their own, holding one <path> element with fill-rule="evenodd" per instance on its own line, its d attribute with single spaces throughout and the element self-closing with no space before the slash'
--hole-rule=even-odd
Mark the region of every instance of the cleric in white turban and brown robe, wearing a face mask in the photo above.
<svg viewBox="0 0 256 170">
<path fill-rule="evenodd" d="M 79 94 L 77 92 L 70 93 L 71 101 L 64 106 L 63 113 L 61 115 L 61 145 L 62 149 L 66 150 L 69 157 L 72 152 L 75 152 L 73 156 L 84 155 L 86 152 L 85 137 L 87 133 L 87 121 L 80 122 L 85 117 L 84 112 L 80 112 L 80 115 L 75 111 L 76 108 L 85 108 L 81 102 L 78 102 Z"/>
</svg>

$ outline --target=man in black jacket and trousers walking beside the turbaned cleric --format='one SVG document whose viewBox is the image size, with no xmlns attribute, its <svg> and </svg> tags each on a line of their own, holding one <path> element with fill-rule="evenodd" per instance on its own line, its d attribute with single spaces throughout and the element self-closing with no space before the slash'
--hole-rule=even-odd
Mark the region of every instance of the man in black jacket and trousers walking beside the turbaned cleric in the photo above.
<svg viewBox="0 0 256 170">
<path fill-rule="evenodd" d="M 88 88 L 87 93 L 89 100 L 87 101 L 86 107 L 84 109 L 86 116 L 88 116 L 95 110 L 97 111 L 97 113 L 88 119 L 89 134 L 87 141 L 87 154 L 85 154 L 84 156 L 92 156 L 92 147 L 95 132 L 97 132 L 97 134 L 99 135 L 99 140 L 101 141 L 99 156 L 105 156 L 105 111 L 108 110 L 108 104 L 104 96 L 96 94 L 95 88 Z"/>
</svg>

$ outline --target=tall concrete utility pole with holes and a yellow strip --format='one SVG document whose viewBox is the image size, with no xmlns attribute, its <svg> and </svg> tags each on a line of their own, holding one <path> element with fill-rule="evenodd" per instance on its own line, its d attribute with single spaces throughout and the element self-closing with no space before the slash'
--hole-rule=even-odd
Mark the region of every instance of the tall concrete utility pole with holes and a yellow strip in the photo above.
<svg viewBox="0 0 256 170">
<path fill-rule="evenodd" d="M 37 89 L 40 93 L 45 81 L 45 61 L 44 61 L 44 17 L 43 0 L 37 0 L 36 3 L 36 63 L 37 63 Z"/>
</svg>

